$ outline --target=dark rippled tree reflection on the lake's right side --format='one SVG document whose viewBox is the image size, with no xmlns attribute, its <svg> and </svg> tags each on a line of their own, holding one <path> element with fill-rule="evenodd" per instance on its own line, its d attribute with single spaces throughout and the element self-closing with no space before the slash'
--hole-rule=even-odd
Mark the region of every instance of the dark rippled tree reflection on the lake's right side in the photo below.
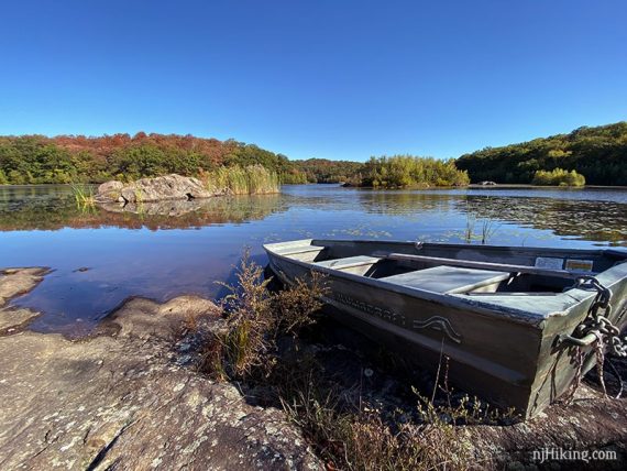
<svg viewBox="0 0 627 471">
<path fill-rule="evenodd" d="M 457 210 L 558 236 L 627 244 L 627 205 L 614 201 L 469 196 Z"/>
</svg>

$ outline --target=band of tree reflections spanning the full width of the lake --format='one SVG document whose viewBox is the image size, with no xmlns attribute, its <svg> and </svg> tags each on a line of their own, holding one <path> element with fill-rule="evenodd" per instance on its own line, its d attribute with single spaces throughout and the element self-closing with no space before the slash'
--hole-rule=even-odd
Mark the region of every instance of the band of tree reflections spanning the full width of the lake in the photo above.
<svg viewBox="0 0 627 471">
<path fill-rule="evenodd" d="M 538 197 L 481 196 L 447 191 L 314 191 L 307 195 L 218 197 L 193 201 L 162 201 L 129 206 L 116 212 L 96 208 L 79 211 L 67 187 L 11 187 L 0 191 L 0 230 L 98 228 L 175 229 L 263 219 L 289 207 L 322 211 L 362 210 L 373 215 L 418 217 L 424 212 L 512 222 L 558 236 L 627 245 L 627 205 L 616 201 Z M 372 224 L 364 218 L 364 227 Z M 338 230 L 346 229 L 345 227 Z M 349 228 L 350 229 L 350 228 Z M 498 232 L 498 231 L 497 231 Z"/>
</svg>

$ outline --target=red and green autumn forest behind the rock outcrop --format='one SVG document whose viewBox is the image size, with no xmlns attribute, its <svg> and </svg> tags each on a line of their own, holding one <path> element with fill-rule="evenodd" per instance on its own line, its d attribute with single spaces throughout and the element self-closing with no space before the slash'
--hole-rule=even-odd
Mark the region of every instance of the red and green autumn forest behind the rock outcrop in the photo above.
<svg viewBox="0 0 627 471">
<path fill-rule="evenodd" d="M 283 154 L 233 140 L 129 134 L 0 136 L 0 184 L 101 183 L 177 173 L 198 176 L 221 167 L 263 165 L 283 183 L 305 175 Z"/>
</svg>

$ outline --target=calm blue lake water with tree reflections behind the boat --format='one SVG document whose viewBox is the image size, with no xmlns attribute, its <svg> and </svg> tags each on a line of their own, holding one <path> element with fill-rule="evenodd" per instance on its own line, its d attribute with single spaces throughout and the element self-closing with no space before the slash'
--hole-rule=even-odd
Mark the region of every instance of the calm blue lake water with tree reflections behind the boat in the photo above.
<svg viewBox="0 0 627 471">
<path fill-rule="evenodd" d="M 280 195 L 76 208 L 66 186 L 0 186 L 0 267 L 54 272 L 14 304 L 44 311 L 32 328 L 82 333 L 130 296 L 219 297 L 244 247 L 264 242 L 402 239 L 591 248 L 627 247 L 627 190 L 487 188 L 381 191 L 284 186 Z M 112 210 L 111 210 L 112 209 Z M 88 269 L 88 270 L 79 270 Z"/>
</svg>

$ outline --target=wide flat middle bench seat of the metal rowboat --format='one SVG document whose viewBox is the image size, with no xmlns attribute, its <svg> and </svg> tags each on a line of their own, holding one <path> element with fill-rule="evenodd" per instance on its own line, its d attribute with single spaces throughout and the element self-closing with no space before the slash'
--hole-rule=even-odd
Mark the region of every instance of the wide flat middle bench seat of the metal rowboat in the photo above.
<svg viewBox="0 0 627 471">
<path fill-rule="evenodd" d="M 495 291 L 498 283 L 510 277 L 507 272 L 462 269 L 458 266 L 433 266 L 431 269 L 385 276 L 382 282 L 395 283 L 433 293 L 453 294 L 471 291 Z"/>
</svg>

